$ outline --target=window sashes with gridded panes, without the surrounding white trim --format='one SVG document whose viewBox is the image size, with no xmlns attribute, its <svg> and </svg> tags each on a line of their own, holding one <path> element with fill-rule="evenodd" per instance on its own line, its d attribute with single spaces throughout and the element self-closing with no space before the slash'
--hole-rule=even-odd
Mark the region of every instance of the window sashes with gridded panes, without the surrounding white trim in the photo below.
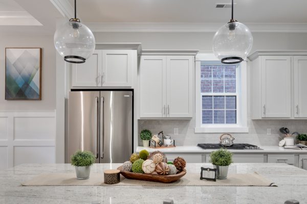
<svg viewBox="0 0 307 204">
<path fill-rule="evenodd" d="M 202 124 L 236 124 L 237 65 L 201 65 Z"/>
</svg>

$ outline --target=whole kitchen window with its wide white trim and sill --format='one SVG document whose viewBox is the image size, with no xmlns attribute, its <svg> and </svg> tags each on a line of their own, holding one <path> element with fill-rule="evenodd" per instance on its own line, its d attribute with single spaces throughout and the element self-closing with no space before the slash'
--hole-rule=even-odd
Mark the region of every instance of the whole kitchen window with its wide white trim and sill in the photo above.
<svg viewBox="0 0 307 204">
<path fill-rule="evenodd" d="M 246 133 L 247 66 L 222 64 L 213 54 L 195 62 L 195 133 Z"/>
</svg>

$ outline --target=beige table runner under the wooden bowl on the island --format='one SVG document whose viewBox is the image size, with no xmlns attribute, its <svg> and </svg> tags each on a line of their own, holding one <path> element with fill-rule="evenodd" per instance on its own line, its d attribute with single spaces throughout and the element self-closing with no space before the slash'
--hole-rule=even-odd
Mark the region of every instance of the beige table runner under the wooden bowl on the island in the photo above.
<svg viewBox="0 0 307 204">
<path fill-rule="evenodd" d="M 103 183 L 103 173 L 91 173 L 90 179 L 77 180 L 75 173 L 43 173 L 23 186 L 109 186 Z M 146 182 L 125 179 L 121 175 L 121 182 L 113 186 L 276 186 L 258 173 L 229 174 L 227 180 L 200 180 L 200 173 L 187 173 L 179 181 L 170 184 Z"/>
</svg>

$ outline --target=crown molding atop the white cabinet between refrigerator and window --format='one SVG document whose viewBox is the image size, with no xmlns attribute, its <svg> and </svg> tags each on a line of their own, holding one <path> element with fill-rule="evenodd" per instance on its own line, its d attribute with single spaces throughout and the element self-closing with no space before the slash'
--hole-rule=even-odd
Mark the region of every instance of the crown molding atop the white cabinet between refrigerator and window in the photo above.
<svg viewBox="0 0 307 204">
<path fill-rule="evenodd" d="M 192 55 L 198 54 L 199 50 L 194 49 L 143 49 L 141 55 Z"/>
</svg>

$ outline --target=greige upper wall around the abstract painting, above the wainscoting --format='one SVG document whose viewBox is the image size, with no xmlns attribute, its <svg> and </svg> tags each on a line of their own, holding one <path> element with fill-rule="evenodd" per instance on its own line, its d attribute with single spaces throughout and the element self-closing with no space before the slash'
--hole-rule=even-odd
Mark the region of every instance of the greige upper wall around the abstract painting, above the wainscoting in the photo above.
<svg viewBox="0 0 307 204">
<path fill-rule="evenodd" d="M 0 35 L 0 111 L 54 111 L 55 48 L 53 35 Z M 5 100 L 5 48 L 41 47 L 41 100 Z"/>
</svg>

